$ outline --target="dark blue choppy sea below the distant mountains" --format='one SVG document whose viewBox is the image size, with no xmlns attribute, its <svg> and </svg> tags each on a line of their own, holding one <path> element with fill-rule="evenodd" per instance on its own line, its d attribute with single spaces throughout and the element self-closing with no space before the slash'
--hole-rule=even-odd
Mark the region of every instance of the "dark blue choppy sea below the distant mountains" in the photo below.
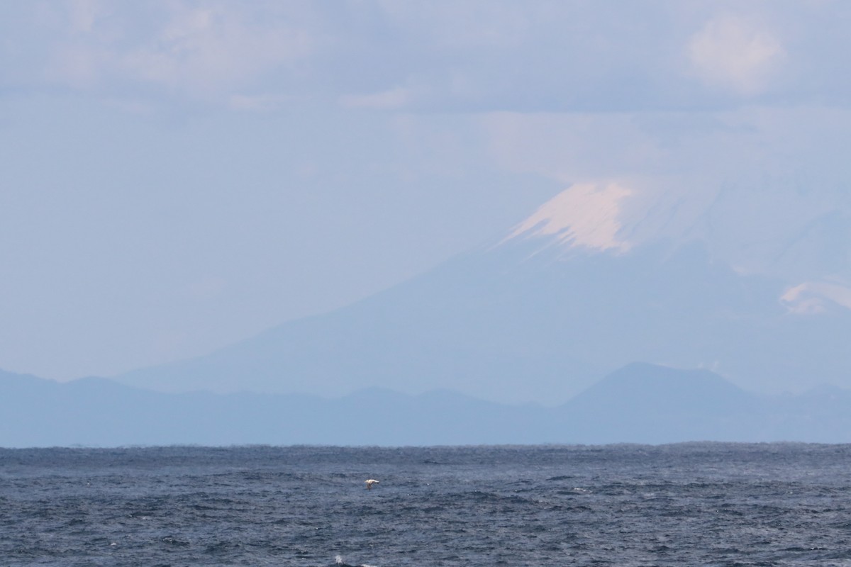
<svg viewBox="0 0 851 567">
<path fill-rule="evenodd" d="M 851 446 L 0 450 L 0 565 L 334 564 L 851 565 Z"/>
</svg>

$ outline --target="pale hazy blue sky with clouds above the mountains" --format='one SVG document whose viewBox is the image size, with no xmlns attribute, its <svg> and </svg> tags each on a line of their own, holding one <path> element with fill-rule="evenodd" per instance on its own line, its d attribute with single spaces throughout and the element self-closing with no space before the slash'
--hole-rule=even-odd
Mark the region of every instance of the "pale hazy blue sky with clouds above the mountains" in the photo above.
<svg viewBox="0 0 851 567">
<path fill-rule="evenodd" d="M 725 192 L 713 246 L 759 269 L 789 226 L 851 210 L 849 18 L 838 0 L 0 0 L 0 368 L 206 354 L 510 234 L 571 186 L 629 196 L 626 216 Z"/>
</svg>

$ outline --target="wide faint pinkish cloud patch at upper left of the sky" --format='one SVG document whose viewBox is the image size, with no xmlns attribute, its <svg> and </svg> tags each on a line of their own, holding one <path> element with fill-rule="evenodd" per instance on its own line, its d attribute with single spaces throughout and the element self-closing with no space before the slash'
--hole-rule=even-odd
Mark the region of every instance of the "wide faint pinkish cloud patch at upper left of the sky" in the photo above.
<svg viewBox="0 0 851 567">
<path fill-rule="evenodd" d="M 161 2 L 137 12 L 80 0 L 44 18 L 57 35 L 49 80 L 76 89 L 135 84 L 228 100 L 232 90 L 291 69 L 312 50 L 310 33 L 286 11 Z"/>
</svg>

